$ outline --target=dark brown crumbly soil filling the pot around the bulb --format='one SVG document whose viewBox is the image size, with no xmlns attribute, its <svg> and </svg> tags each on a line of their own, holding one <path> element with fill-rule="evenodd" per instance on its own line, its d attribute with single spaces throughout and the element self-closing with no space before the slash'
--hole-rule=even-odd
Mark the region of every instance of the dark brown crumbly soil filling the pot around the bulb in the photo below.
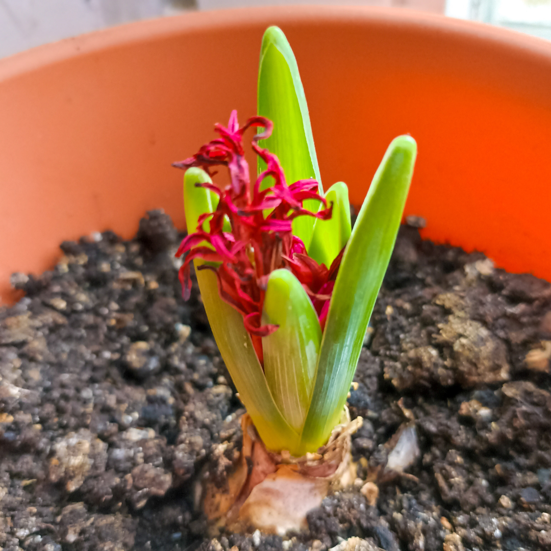
<svg viewBox="0 0 551 551">
<path fill-rule="evenodd" d="M 0 309 L 4 551 L 551 548 L 551 285 L 410 226 L 349 399 L 361 480 L 290 540 L 207 538 L 201 477 L 223 482 L 242 409 L 196 285 L 181 299 L 177 242 L 152 212 L 132 241 L 65 242 L 52 272 L 15 274 L 26 296 Z M 377 479 L 369 506 L 359 488 L 408 417 L 420 458 Z"/>
</svg>

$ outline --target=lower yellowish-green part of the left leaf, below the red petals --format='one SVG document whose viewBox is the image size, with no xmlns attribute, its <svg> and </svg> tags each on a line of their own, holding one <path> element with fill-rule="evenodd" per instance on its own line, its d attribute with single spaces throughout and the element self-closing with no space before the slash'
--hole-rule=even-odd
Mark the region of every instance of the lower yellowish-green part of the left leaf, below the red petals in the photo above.
<svg viewBox="0 0 551 551">
<path fill-rule="evenodd" d="M 214 339 L 258 434 L 269 450 L 293 453 L 299 435 L 274 402 L 241 314 L 220 298 L 215 273 L 197 269 L 196 273 Z"/>
</svg>

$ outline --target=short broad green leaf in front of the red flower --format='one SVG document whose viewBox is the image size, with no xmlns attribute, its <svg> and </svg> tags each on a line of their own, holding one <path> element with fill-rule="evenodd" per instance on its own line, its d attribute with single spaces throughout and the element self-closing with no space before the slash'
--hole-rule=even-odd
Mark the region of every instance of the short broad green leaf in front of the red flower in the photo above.
<svg viewBox="0 0 551 551">
<path fill-rule="evenodd" d="M 268 279 L 262 324 L 279 325 L 262 338 L 264 374 L 283 417 L 300 432 L 320 352 L 321 327 L 309 296 L 293 273 L 274 270 Z"/>
</svg>

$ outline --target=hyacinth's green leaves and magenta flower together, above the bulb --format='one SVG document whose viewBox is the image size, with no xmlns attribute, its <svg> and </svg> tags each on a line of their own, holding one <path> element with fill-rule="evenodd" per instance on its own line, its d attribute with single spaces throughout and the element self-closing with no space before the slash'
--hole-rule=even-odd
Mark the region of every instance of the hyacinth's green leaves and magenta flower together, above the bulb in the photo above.
<svg viewBox="0 0 551 551">
<path fill-rule="evenodd" d="M 240 126 L 233 111 L 215 130 L 217 139 L 175 163 L 186 170 L 183 297 L 194 262 L 214 338 L 258 434 L 268 450 L 298 457 L 341 421 L 417 146 L 409 136 L 390 144 L 352 229 L 347 186 L 323 191 L 298 67 L 277 27 L 262 41 L 258 116 Z M 219 167 L 229 172 L 222 188 L 211 179 Z"/>
</svg>

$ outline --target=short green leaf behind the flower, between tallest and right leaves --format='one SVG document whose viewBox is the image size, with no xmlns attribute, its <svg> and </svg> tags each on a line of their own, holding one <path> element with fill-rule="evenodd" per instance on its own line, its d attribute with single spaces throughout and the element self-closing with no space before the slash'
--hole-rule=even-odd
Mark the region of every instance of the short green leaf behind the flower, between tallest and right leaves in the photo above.
<svg viewBox="0 0 551 551">
<path fill-rule="evenodd" d="M 314 223 L 308 255 L 318 264 L 325 264 L 329 268 L 347 244 L 352 231 L 347 185 L 344 182 L 333 184 L 327 190 L 325 198 L 328 205 L 333 203 L 333 212 L 329 220 L 317 219 Z M 325 208 L 323 204 L 320 205 L 320 209 L 322 208 Z"/>
</svg>

